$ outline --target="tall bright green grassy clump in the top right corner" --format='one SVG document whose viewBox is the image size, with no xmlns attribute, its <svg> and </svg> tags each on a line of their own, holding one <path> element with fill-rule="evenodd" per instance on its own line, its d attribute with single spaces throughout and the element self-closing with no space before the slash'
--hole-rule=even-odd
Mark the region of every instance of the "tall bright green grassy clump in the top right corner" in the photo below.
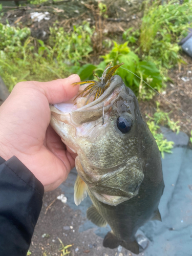
<svg viewBox="0 0 192 256">
<path fill-rule="evenodd" d="M 152 5 L 149 1 L 145 2 L 140 28 L 140 47 L 145 59 L 165 68 L 183 62 L 177 42 L 187 34 L 191 20 L 191 1 L 182 5 L 174 0 L 164 5 L 160 5 L 159 1 L 154 1 Z"/>
</svg>

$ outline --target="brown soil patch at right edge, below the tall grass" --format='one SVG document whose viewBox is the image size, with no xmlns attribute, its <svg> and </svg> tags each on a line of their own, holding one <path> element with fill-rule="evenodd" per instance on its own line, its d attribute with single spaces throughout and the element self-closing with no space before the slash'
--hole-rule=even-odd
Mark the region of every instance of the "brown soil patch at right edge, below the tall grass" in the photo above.
<svg viewBox="0 0 192 256">
<path fill-rule="evenodd" d="M 175 122 L 179 121 L 181 131 L 191 136 L 192 58 L 184 53 L 182 55 L 186 64 L 169 71 L 168 76 L 171 81 L 167 82 L 167 88 L 161 93 L 161 96 L 156 95 L 148 102 L 141 101 L 140 106 L 142 113 L 153 116 L 156 111 L 156 101 L 158 101 L 160 103 L 160 109 L 164 112 L 171 111 L 170 118 Z"/>
</svg>

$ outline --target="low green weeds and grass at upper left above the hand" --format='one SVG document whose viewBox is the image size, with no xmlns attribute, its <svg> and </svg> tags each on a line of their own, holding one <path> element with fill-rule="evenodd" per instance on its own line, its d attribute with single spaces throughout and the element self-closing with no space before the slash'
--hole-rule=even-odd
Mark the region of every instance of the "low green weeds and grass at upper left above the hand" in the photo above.
<svg viewBox="0 0 192 256">
<path fill-rule="evenodd" d="M 56 27 L 56 26 L 55 26 Z M 52 28 L 50 41 L 30 36 L 28 28 L 20 29 L 0 24 L 0 75 L 11 91 L 19 81 L 50 81 L 71 73 L 71 67 L 80 68 L 92 51 L 89 24 L 75 27 L 70 33 Z"/>
</svg>

